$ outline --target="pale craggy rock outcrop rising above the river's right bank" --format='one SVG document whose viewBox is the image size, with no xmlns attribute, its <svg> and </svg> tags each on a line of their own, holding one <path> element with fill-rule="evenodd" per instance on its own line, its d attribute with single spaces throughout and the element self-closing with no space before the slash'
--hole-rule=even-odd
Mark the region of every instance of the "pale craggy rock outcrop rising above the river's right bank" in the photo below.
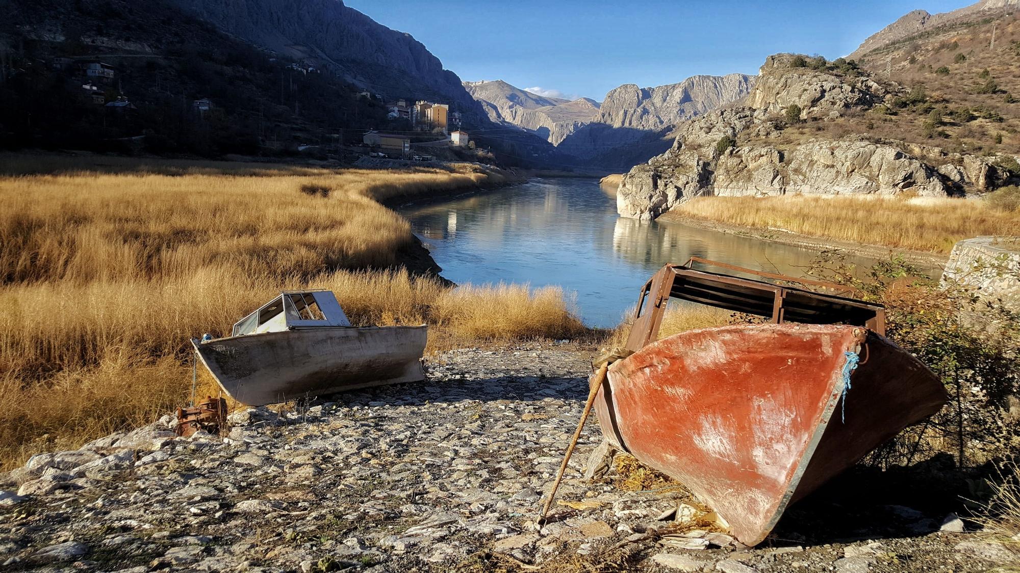
<svg viewBox="0 0 1020 573">
<path fill-rule="evenodd" d="M 653 219 L 701 196 L 945 197 L 1015 176 L 1012 155 L 952 153 L 869 134 L 878 115 L 902 109 L 906 116 L 928 103 L 916 89 L 876 80 L 843 59 L 770 56 L 741 105 L 684 123 L 670 150 L 623 176 L 620 215 Z"/>
</svg>

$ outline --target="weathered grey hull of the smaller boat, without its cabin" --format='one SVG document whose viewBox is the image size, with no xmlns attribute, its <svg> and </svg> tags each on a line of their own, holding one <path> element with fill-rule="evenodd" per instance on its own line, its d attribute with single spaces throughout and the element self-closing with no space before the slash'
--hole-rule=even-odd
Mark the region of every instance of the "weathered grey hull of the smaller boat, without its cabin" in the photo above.
<svg viewBox="0 0 1020 573">
<path fill-rule="evenodd" d="M 196 343 L 231 398 L 263 406 L 424 379 L 425 326 L 297 328 Z"/>
</svg>

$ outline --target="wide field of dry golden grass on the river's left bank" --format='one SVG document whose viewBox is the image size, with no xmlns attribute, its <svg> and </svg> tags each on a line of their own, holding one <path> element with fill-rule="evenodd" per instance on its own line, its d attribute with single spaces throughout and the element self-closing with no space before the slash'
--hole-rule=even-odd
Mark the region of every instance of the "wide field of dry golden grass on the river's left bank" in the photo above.
<svg viewBox="0 0 1020 573">
<path fill-rule="evenodd" d="M 555 289 L 384 270 L 413 239 L 375 199 L 486 173 L 247 168 L 0 177 L 0 467 L 184 403 L 189 337 L 283 289 L 329 289 L 356 324 L 426 322 L 432 348 L 583 330 Z"/>
</svg>

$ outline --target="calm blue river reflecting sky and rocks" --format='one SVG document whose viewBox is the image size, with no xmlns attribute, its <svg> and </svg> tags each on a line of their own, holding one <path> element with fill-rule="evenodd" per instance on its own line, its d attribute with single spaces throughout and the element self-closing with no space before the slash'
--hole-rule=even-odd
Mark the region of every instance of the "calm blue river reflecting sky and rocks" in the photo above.
<svg viewBox="0 0 1020 573">
<path fill-rule="evenodd" d="M 803 276 L 817 255 L 683 224 L 619 217 L 616 198 L 598 179 L 531 179 L 411 205 L 401 213 L 443 267 L 443 276 L 461 284 L 558 284 L 576 293 L 577 310 L 590 326 L 617 324 L 636 302 L 639 288 L 666 263 L 699 256 Z"/>
</svg>

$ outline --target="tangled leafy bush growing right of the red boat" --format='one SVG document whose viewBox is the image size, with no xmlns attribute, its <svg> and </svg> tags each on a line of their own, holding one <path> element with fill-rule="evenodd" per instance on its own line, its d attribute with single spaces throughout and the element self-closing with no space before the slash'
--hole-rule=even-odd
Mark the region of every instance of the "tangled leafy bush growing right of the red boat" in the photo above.
<svg viewBox="0 0 1020 573">
<path fill-rule="evenodd" d="M 945 282 L 902 256 L 858 268 L 827 253 L 812 264 L 809 274 L 883 304 L 885 335 L 927 365 L 950 395 L 940 412 L 870 454 L 867 463 L 909 465 L 947 452 L 960 466 L 976 466 L 1017 453 L 1020 425 L 1010 423 L 1009 410 L 1020 389 L 1020 315 L 978 299 L 966 281 L 989 272 L 1020 280 L 1020 271 L 997 260 L 979 261 Z"/>
</svg>

